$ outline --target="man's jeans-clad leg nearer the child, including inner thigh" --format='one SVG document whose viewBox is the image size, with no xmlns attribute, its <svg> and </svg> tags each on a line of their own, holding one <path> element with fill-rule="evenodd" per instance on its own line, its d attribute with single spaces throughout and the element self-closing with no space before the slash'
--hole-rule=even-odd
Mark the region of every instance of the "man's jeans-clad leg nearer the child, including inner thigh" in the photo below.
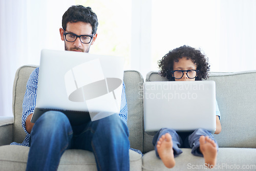
<svg viewBox="0 0 256 171">
<path fill-rule="evenodd" d="M 94 153 L 98 170 L 129 170 L 129 131 L 118 114 L 90 121 L 86 128 L 74 135 L 72 148 Z"/>
</svg>

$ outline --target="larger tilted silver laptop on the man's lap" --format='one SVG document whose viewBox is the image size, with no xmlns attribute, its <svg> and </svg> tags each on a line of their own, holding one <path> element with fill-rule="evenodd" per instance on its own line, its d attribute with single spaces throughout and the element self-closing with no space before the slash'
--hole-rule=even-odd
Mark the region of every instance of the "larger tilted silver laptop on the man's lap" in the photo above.
<svg viewBox="0 0 256 171">
<path fill-rule="evenodd" d="M 31 122 L 47 111 L 65 113 L 73 125 L 118 113 L 123 65 L 123 57 L 42 50 Z"/>
</svg>

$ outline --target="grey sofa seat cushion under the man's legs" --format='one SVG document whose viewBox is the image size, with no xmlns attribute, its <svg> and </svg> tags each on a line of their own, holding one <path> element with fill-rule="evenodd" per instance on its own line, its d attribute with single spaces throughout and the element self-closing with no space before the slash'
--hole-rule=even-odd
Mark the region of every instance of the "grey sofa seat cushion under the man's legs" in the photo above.
<svg viewBox="0 0 256 171">
<path fill-rule="evenodd" d="M 0 146 L 0 170 L 26 170 L 29 147 L 19 145 Z M 141 170 L 141 155 L 130 150 L 130 170 Z M 92 152 L 68 149 L 62 155 L 58 170 L 95 170 L 97 166 Z"/>
</svg>

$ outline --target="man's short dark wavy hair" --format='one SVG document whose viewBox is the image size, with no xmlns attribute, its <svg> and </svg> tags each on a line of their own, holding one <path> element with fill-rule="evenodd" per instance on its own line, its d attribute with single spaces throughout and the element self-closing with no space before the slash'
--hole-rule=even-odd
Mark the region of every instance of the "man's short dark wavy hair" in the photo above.
<svg viewBox="0 0 256 171">
<path fill-rule="evenodd" d="M 92 34 L 97 32 L 98 18 L 90 7 L 71 6 L 62 16 L 62 28 L 66 30 L 67 23 L 84 22 L 92 26 Z"/>
</svg>

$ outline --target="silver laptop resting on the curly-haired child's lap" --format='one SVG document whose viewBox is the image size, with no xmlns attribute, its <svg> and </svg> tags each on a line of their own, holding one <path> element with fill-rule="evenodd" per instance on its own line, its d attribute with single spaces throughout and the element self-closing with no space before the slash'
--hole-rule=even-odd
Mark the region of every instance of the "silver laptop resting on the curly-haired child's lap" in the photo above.
<svg viewBox="0 0 256 171">
<path fill-rule="evenodd" d="M 154 135 L 168 127 L 177 132 L 216 130 L 214 81 L 144 82 L 144 129 Z"/>
</svg>

